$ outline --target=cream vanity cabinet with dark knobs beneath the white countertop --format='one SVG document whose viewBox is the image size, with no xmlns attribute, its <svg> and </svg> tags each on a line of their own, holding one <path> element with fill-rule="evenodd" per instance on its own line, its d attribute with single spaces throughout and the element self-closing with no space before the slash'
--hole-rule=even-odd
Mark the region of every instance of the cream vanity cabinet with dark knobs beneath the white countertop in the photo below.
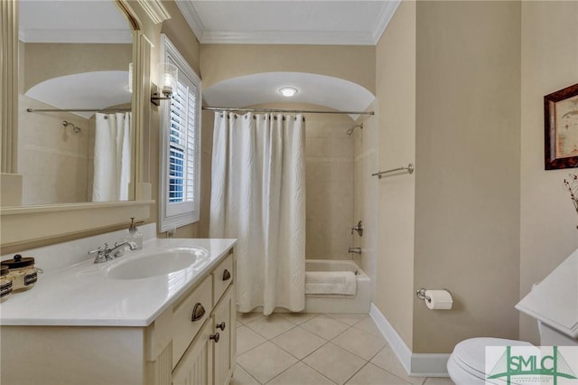
<svg viewBox="0 0 578 385">
<path fill-rule="evenodd" d="M 227 385 L 236 362 L 237 312 L 235 258 L 226 250 L 147 326 L 3 324 L 0 383 Z M 140 297 L 141 303 L 150 298 L 144 290 Z"/>
</svg>

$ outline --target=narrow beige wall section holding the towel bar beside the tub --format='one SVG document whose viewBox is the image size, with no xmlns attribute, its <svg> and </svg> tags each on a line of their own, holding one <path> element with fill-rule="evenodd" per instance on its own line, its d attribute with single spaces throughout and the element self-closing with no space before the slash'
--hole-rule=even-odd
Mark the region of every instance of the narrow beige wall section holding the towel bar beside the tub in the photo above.
<svg viewBox="0 0 578 385">
<path fill-rule="evenodd" d="M 402 2 L 378 42 L 378 169 L 415 162 L 415 2 Z M 420 164 L 416 164 L 417 173 Z M 375 180 L 378 186 L 376 302 L 411 347 L 414 318 L 415 174 Z"/>
</svg>

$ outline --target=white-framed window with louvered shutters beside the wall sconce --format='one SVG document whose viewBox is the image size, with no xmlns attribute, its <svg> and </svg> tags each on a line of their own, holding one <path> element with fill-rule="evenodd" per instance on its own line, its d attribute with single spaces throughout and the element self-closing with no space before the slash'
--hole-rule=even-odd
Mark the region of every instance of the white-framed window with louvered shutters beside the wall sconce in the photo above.
<svg viewBox="0 0 578 385">
<path fill-rule="evenodd" d="M 199 221 L 200 79 L 166 36 L 161 61 L 179 69 L 172 99 L 160 107 L 159 231 Z"/>
</svg>

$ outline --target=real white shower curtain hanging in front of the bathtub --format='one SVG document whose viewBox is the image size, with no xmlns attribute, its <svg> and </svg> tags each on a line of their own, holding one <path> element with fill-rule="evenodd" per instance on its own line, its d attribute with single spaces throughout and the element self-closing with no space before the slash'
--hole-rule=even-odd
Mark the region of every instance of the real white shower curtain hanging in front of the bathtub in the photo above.
<svg viewBox="0 0 578 385">
<path fill-rule="evenodd" d="M 210 238 L 237 238 L 238 310 L 305 306 L 302 115 L 215 114 Z"/>
</svg>

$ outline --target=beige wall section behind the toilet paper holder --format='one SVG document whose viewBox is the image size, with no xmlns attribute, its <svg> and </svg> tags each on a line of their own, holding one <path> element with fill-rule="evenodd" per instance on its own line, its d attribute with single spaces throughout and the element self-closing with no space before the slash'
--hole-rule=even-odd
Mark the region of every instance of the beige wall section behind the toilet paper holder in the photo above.
<svg viewBox="0 0 578 385">
<path fill-rule="evenodd" d="M 517 338 L 520 3 L 419 2 L 413 352 Z"/>
</svg>

